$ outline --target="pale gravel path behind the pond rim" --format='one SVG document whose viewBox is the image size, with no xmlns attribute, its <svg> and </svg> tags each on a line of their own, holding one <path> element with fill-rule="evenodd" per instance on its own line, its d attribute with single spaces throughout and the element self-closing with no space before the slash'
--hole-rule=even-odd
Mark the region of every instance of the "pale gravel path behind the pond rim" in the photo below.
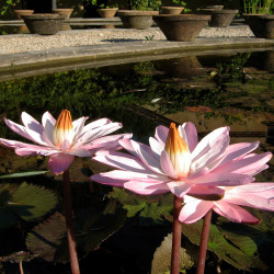
<svg viewBox="0 0 274 274">
<path fill-rule="evenodd" d="M 247 25 L 236 25 L 225 28 L 205 27 L 201 37 L 250 37 L 254 36 Z M 14 34 L 0 36 L 0 55 L 25 53 L 32 50 L 87 46 L 95 44 L 112 44 L 124 42 L 147 42 L 165 39 L 158 27 L 149 30 L 129 30 L 129 28 L 92 28 L 81 31 L 60 31 L 55 35 L 37 34 Z"/>
</svg>

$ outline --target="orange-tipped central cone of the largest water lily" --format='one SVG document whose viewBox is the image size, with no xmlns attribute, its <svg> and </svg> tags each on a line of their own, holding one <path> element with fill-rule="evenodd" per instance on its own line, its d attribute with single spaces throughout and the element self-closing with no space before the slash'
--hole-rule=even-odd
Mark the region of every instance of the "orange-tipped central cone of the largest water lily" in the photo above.
<svg viewBox="0 0 274 274">
<path fill-rule="evenodd" d="M 170 124 L 164 150 L 167 151 L 179 179 L 186 178 L 191 168 L 191 152 L 184 139 L 180 136 L 174 123 Z"/>
</svg>

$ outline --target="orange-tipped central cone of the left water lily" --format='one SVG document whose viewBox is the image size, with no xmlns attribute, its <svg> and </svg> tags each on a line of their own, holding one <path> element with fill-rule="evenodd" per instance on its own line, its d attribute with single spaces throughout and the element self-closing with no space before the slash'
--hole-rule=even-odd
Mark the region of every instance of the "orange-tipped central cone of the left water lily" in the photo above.
<svg viewBox="0 0 274 274">
<path fill-rule="evenodd" d="M 73 141 L 73 137 L 75 133 L 73 133 L 73 125 L 70 112 L 64 110 L 58 116 L 54 127 L 54 133 L 53 133 L 54 144 L 57 147 L 61 147 L 64 141 L 67 140 L 68 144 L 71 145 Z"/>
</svg>

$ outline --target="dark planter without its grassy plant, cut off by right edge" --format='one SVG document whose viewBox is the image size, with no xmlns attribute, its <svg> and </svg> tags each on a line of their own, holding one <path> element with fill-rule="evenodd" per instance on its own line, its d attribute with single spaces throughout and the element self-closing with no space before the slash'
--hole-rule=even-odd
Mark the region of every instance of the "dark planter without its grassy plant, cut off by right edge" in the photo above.
<svg viewBox="0 0 274 274">
<path fill-rule="evenodd" d="M 243 14 L 243 19 L 256 37 L 274 39 L 274 15 Z"/>
</svg>

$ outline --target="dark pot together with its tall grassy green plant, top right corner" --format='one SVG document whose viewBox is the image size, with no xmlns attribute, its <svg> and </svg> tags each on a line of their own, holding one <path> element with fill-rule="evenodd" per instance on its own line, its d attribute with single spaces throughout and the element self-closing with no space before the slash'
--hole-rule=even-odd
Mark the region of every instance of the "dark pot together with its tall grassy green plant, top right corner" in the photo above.
<svg viewBox="0 0 274 274">
<path fill-rule="evenodd" d="M 243 18 L 256 37 L 274 38 L 273 0 L 242 0 Z"/>
</svg>

